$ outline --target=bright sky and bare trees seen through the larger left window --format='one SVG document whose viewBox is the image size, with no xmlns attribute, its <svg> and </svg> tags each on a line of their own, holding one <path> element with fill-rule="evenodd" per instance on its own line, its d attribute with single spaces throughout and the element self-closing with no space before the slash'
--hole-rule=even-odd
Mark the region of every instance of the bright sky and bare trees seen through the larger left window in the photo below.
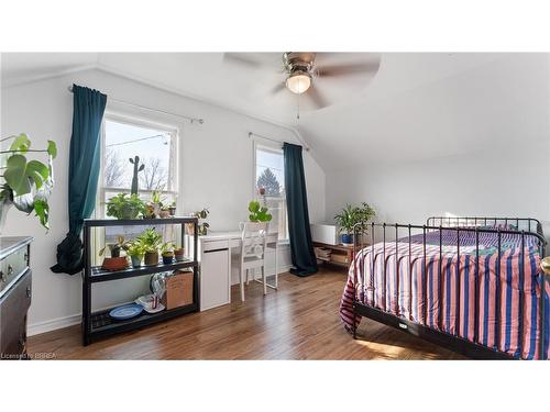
<svg viewBox="0 0 550 412">
<path fill-rule="evenodd" d="M 129 158 L 140 156 L 140 164 L 145 165 L 138 175 L 140 189 L 168 189 L 172 145 L 168 132 L 110 120 L 105 127 L 105 187 L 129 189 L 133 176 Z"/>
</svg>

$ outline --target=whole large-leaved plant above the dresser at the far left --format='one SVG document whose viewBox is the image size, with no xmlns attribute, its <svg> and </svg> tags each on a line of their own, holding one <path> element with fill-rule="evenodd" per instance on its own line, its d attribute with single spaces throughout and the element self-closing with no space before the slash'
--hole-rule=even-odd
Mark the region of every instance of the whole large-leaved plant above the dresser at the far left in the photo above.
<svg viewBox="0 0 550 412">
<path fill-rule="evenodd" d="M 45 149 L 31 149 L 31 140 L 24 133 L 0 140 L 0 143 L 13 141 L 0 155 L 9 155 L 0 167 L 3 170 L 3 183 L 0 186 L 0 234 L 11 205 L 26 214 L 35 212 L 40 223 L 50 229 L 48 198 L 54 188 L 53 159 L 57 156 L 55 142 L 47 141 Z M 29 160 L 25 154 L 47 154 L 47 165 L 36 159 Z M 3 160 L 3 156 L 0 156 Z"/>
</svg>

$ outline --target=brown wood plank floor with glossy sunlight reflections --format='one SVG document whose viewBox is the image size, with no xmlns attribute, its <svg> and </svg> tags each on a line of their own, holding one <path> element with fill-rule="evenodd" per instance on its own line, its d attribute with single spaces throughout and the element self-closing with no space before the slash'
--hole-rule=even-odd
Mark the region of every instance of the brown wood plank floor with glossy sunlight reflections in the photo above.
<svg viewBox="0 0 550 412">
<path fill-rule="evenodd" d="M 193 313 L 81 346 L 80 326 L 32 336 L 29 353 L 56 359 L 461 359 L 450 350 L 371 320 L 354 341 L 338 308 L 345 271 L 279 276 L 279 290 L 252 282 L 241 303 Z"/>
</svg>

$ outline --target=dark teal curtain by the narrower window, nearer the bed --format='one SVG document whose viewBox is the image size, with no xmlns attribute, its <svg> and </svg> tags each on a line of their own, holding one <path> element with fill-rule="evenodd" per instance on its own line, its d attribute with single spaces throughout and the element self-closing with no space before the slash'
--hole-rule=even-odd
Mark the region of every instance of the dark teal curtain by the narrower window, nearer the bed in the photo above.
<svg viewBox="0 0 550 412">
<path fill-rule="evenodd" d="M 297 276 L 309 276 L 317 272 L 317 259 L 311 242 L 309 226 L 306 176 L 301 146 L 285 143 L 285 190 L 288 213 L 288 235 L 294 268 L 290 272 Z"/>
</svg>

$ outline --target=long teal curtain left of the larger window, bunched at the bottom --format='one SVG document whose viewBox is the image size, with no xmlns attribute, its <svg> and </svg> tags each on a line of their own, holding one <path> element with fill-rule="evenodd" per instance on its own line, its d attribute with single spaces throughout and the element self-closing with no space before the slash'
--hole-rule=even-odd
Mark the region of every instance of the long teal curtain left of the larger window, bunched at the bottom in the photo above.
<svg viewBox="0 0 550 412">
<path fill-rule="evenodd" d="M 73 135 L 68 170 L 69 232 L 57 246 L 54 272 L 74 275 L 82 269 L 80 232 L 94 212 L 100 166 L 100 129 L 107 96 L 73 85 Z"/>
</svg>

